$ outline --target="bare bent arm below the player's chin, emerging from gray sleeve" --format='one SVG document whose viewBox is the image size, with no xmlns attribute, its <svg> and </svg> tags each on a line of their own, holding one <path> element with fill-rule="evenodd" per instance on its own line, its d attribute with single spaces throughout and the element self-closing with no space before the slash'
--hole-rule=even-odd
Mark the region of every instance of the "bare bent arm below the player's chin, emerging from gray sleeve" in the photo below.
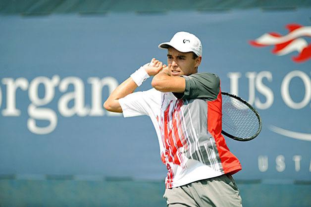
<svg viewBox="0 0 311 207">
<path fill-rule="evenodd" d="M 166 72 L 155 75 L 151 83 L 157 91 L 183 93 L 186 89 L 186 81 L 181 76 L 170 76 Z"/>
</svg>

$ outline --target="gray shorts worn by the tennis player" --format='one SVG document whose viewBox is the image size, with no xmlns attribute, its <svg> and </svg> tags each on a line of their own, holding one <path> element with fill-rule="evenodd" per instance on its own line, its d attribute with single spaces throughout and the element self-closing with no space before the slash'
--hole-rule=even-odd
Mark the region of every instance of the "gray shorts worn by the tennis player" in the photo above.
<svg viewBox="0 0 311 207">
<path fill-rule="evenodd" d="M 242 207 L 239 189 L 230 174 L 165 189 L 168 207 Z"/>
</svg>

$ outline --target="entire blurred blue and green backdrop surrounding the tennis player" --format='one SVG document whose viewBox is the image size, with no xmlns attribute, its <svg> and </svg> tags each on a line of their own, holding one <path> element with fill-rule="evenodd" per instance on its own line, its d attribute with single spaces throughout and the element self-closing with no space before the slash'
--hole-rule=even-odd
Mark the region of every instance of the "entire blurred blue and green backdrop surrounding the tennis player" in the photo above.
<svg viewBox="0 0 311 207">
<path fill-rule="evenodd" d="M 310 207 L 310 0 L 0 0 L 0 207 L 166 206 L 149 117 L 102 105 L 178 31 L 261 115 L 226 138 L 243 206 Z"/>
</svg>

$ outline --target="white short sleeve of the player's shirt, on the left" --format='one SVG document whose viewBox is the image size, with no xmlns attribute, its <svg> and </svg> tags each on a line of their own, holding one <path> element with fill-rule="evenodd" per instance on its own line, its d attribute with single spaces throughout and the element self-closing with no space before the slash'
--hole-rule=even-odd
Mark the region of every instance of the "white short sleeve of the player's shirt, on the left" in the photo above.
<svg viewBox="0 0 311 207">
<path fill-rule="evenodd" d="M 158 103 L 157 93 L 154 89 L 135 92 L 119 99 L 124 117 L 149 115 Z"/>
</svg>

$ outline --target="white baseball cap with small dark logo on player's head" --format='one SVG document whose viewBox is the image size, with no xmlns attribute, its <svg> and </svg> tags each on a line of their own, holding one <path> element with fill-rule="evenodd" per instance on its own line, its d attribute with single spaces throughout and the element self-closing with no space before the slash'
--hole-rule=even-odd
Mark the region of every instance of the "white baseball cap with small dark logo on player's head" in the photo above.
<svg viewBox="0 0 311 207">
<path fill-rule="evenodd" d="M 173 47 L 179 52 L 194 52 L 198 56 L 202 55 L 201 41 L 189 32 L 177 32 L 169 42 L 158 46 L 159 49 L 168 47 Z"/>
</svg>

